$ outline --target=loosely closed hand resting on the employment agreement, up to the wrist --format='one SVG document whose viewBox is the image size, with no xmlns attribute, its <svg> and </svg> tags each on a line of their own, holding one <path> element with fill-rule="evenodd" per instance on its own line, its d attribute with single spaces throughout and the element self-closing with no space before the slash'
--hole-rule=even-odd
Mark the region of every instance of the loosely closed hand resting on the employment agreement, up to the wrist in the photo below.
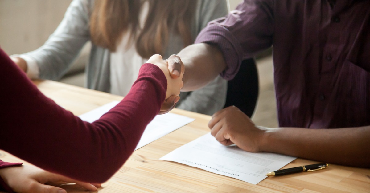
<svg viewBox="0 0 370 193">
<path fill-rule="evenodd" d="M 249 152 L 260 151 L 259 145 L 265 133 L 235 106 L 224 108 L 213 114 L 208 127 L 211 129 L 211 134 L 222 145 L 235 144 Z"/>
</svg>

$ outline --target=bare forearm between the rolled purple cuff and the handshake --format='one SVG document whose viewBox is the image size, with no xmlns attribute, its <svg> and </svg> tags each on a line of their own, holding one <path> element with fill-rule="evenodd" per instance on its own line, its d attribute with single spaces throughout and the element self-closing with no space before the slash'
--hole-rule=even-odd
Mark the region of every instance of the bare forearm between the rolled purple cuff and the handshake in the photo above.
<svg viewBox="0 0 370 193">
<path fill-rule="evenodd" d="M 226 68 L 221 50 L 210 44 L 189 45 L 178 56 L 185 65 L 181 91 L 192 91 L 207 85 Z"/>
</svg>

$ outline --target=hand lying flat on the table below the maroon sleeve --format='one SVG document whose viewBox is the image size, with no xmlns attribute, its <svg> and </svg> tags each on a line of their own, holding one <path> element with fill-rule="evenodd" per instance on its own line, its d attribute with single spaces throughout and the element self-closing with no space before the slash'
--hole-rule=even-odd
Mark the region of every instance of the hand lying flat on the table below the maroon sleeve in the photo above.
<svg viewBox="0 0 370 193">
<path fill-rule="evenodd" d="M 90 191 L 96 191 L 96 187 L 101 186 L 101 184 L 91 185 L 87 182 L 73 180 L 65 176 L 47 172 L 32 165 L 13 166 L 0 169 L 0 176 L 14 192 L 66 192 L 59 187 L 45 185 L 45 183 L 52 184 L 57 182 L 75 183 Z"/>
</svg>

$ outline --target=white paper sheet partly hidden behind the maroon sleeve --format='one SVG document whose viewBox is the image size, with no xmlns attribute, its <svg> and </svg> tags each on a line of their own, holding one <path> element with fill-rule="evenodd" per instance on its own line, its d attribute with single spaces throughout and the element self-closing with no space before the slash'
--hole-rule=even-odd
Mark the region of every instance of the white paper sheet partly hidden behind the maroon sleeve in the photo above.
<svg viewBox="0 0 370 193">
<path fill-rule="evenodd" d="M 105 104 L 101 107 L 95 108 L 79 117 L 89 123 L 98 120 L 104 113 L 107 113 L 111 108 L 116 106 L 120 101 L 113 101 L 111 103 Z M 143 135 L 140 138 L 138 145 L 135 150 L 147 145 L 176 129 L 191 123 L 194 118 L 185 117 L 178 114 L 166 113 L 162 115 L 157 115 L 154 119 L 147 125 L 144 130 Z"/>
</svg>

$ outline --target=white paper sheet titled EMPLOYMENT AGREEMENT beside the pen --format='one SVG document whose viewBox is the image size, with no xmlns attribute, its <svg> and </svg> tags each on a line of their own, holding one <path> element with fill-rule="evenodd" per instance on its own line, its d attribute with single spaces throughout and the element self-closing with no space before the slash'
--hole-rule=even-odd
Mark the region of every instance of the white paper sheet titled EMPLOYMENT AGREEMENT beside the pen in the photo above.
<svg viewBox="0 0 370 193">
<path fill-rule="evenodd" d="M 160 159 L 183 163 L 256 185 L 267 177 L 267 173 L 279 170 L 296 158 L 265 152 L 250 153 L 235 145 L 225 147 L 208 133 Z"/>
</svg>

